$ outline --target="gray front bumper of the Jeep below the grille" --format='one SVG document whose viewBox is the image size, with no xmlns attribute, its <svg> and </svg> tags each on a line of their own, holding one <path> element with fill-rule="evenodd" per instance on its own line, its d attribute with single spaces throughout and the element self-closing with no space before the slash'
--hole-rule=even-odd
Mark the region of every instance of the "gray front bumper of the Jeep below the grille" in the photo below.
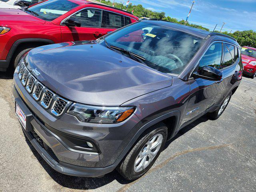
<svg viewBox="0 0 256 192">
<path fill-rule="evenodd" d="M 114 170 L 122 160 L 120 154 L 133 137 L 128 133 L 140 122 L 135 115 L 120 124 L 94 124 L 94 126 L 79 122 L 68 114 L 56 119 L 26 92 L 17 74 L 14 74 L 13 95 L 20 108 L 31 117 L 30 130 L 23 131 L 32 145 L 54 170 L 72 176 L 97 177 Z M 43 146 L 36 140 L 32 130 L 43 141 Z M 87 154 L 72 150 L 56 131 L 86 140 L 89 138 L 98 146 L 100 153 Z"/>
</svg>

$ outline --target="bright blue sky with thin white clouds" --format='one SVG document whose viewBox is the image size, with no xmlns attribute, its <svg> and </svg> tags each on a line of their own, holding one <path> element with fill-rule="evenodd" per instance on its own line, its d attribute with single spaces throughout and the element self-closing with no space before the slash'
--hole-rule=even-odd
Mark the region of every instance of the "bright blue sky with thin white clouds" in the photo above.
<svg viewBox="0 0 256 192">
<path fill-rule="evenodd" d="M 126 0 L 124 0 L 125 4 Z M 165 12 L 166 16 L 186 20 L 192 0 L 130 0 L 144 8 Z M 188 22 L 202 25 L 210 30 L 254 30 L 256 31 L 256 0 L 195 0 Z"/>
</svg>

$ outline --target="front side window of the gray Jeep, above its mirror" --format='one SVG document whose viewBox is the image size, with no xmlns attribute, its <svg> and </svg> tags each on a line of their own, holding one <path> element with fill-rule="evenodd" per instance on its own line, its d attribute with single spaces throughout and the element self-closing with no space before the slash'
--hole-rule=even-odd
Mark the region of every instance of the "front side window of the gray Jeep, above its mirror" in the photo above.
<svg viewBox="0 0 256 192">
<path fill-rule="evenodd" d="M 206 51 L 204 56 L 199 62 L 199 69 L 200 70 L 203 66 L 211 66 L 214 68 L 220 68 L 222 56 L 222 43 L 214 43 L 210 46 L 210 48 Z"/>
</svg>

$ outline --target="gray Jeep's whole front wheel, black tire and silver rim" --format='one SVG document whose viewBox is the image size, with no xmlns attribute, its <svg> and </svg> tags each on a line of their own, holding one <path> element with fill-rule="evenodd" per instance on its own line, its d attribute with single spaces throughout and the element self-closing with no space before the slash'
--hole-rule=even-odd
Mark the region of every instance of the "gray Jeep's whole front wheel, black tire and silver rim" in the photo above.
<svg viewBox="0 0 256 192">
<path fill-rule="evenodd" d="M 146 130 L 136 141 L 135 145 L 126 157 L 124 157 L 122 162 L 120 162 L 116 168 L 117 171 L 127 180 L 136 180 L 143 176 L 162 152 L 167 135 L 168 129 L 164 123 L 158 123 L 149 130 Z M 162 142 L 160 143 L 161 139 Z M 148 143 L 155 143 L 151 150 L 147 149 L 148 146 L 152 147 L 148 145 Z M 143 158 L 140 157 L 140 154 L 143 154 Z M 135 164 L 135 162 L 137 162 L 137 164 Z M 145 162 L 144 166 L 141 166 L 143 162 Z"/>
</svg>

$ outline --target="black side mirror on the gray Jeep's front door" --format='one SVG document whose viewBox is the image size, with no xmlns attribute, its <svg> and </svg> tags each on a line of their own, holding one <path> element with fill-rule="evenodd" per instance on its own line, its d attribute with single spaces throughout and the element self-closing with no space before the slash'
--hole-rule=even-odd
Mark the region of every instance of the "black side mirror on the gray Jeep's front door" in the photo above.
<svg viewBox="0 0 256 192">
<path fill-rule="evenodd" d="M 199 72 L 194 72 L 194 78 L 202 78 L 212 81 L 220 81 L 222 79 L 222 71 L 211 66 L 203 66 Z"/>
</svg>

